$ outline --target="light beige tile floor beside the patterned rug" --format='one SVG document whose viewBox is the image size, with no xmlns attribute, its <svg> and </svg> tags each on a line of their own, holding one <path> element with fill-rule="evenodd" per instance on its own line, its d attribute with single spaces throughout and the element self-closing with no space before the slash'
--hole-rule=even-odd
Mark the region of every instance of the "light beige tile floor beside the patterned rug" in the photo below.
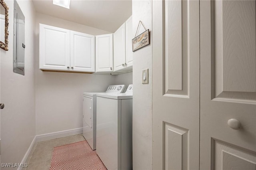
<svg viewBox="0 0 256 170">
<path fill-rule="evenodd" d="M 28 167 L 26 170 L 49 170 L 54 147 L 74 142 L 80 142 L 82 140 L 85 140 L 84 136 L 82 134 L 77 134 L 65 138 L 38 142 L 28 162 Z"/>
</svg>

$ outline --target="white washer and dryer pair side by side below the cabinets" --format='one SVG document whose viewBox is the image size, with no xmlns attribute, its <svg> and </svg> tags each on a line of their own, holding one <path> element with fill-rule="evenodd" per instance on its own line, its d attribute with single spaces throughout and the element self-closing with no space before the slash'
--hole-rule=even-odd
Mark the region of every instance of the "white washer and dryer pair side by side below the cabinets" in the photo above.
<svg viewBox="0 0 256 170">
<path fill-rule="evenodd" d="M 115 86 L 105 93 L 84 93 L 84 137 L 108 170 L 132 170 L 133 88 L 120 93 L 124 85 Z"/>
</svg>

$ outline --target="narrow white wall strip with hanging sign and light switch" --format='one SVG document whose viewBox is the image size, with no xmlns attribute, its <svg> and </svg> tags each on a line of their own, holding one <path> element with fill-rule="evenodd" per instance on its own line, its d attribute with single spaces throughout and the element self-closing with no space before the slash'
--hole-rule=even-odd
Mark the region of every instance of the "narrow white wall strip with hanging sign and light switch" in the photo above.
<svg viewBox="0 0 256 170">
<path fill-rule="evenodd" d="M 150 31 L 150 45 L 133 53 L 133 126 L 132 154 L 134 170 L 152 169 L 152 1 L 132 1 L 132 28 L 139 21 Z M 138 35 L 144 32 L 140 26 Z M 142 69 L 148 68 L 148 84 L 142 84 Z"/>
</svg>

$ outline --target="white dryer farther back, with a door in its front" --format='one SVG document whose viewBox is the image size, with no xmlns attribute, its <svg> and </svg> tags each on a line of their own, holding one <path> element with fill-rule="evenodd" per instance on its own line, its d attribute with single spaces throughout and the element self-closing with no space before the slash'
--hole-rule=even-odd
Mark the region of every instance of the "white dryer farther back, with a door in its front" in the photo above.
<svg viewBox="0 0 256 170">
<path fill-rule="evenodd" d="M 122 93 L 125 85 L 110 85 L 106 91 L 83 93 L 83 135 L 92 150 L 96 149 L 96 95 Z"/>
</svg>

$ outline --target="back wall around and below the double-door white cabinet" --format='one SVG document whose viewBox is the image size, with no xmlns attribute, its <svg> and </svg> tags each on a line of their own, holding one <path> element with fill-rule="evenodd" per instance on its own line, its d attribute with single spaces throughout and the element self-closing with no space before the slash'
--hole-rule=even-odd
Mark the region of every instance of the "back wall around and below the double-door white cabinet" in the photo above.
<svg viewBox="0 0 256 170">
<path fill-rule="evenodd" d="M 82 127 L 82 93 L 105 91 L 115 75 L 44 72 L 39 70 L 39 23 L 86 34 L 108 34 L 104 30 L 36 14 L 36 134 Z"/>
</svg>

